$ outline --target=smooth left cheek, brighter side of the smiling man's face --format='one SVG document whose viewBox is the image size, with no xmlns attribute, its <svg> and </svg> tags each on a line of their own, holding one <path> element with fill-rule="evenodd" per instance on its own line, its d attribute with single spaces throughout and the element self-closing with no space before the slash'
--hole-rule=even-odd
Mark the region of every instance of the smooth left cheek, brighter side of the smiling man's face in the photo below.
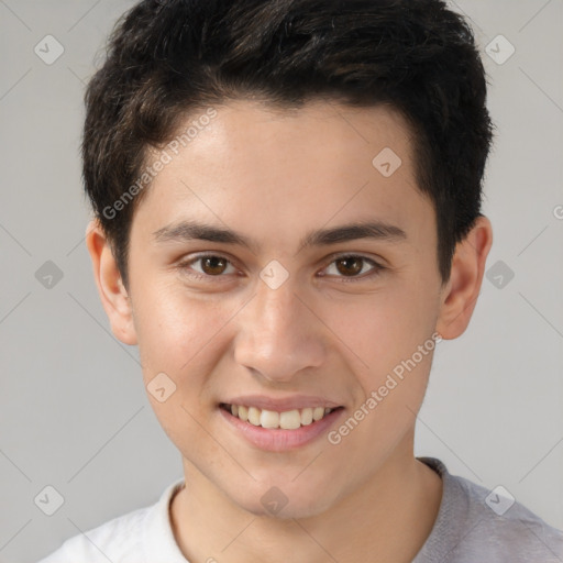
<svg viewBox="0 0 563 563">
<path fill-rule="evenodd" d="M 195 420 L 208 413 L 210 374 L 225 351 L 221 329 L 233 314 L 233 303 L 188 299 L 186 291 L 166 285 L 142 289 L 134 318 L 147 397 L 169 439 L 181 449 L 189 437 L 197 449 L 205 433 Z"/>
</svg>

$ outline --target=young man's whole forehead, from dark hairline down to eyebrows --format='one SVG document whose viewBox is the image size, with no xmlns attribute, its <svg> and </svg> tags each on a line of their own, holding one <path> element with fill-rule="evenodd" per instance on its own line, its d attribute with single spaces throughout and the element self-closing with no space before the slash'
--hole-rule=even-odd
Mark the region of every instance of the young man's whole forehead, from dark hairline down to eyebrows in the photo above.
<svg viewBox="0 0 563 563">
<path fill-rule="evenodd" d="M 331 221 L 378 218 L 416 230 L 433 220 L 416 185 L 411 131 L 389 108 L 233 101 L 213 111 L 191 113 L 163 150 L 169 162 L 140 206 L 155 230 L 198 218 L 291 238 L 299 225 Z"/>
</svg>

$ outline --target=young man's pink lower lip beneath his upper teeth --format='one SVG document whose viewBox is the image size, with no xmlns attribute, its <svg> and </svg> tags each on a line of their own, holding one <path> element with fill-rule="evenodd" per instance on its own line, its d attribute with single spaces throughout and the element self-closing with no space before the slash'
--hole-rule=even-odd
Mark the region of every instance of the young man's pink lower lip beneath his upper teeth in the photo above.
<svg viewBox="0 0 563 563">
<path fill-rule="evenodd" d="M 250 422 L 243 422 L 239 417 L 234 417 L 222 408 L 219 408 L 219 410 L 223 419 L 231 427 L 234 427 L 249 442 L 261 450 L 269 452 L 295 450 L 312 442 L 321 434 L 324 434 L 331 424 L 344 412 L 344 409 L 340 408 L 305 427 L 296 428 L 295 430 L 284 430 L 282 428 L 267 429 L 255 427 Z"/>
</svg>

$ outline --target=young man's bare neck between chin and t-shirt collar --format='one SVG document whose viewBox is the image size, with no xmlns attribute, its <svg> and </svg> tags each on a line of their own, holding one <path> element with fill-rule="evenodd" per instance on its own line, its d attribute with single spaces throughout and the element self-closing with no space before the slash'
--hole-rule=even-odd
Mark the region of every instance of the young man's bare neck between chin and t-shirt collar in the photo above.
<svg viewBox="0 0 563 563">
<path fill-rule="evenodd" d="M 170 509 L 176 541 L 190 563 L 411 562 L 438 516 L 442 482 L 409 450 L 328 510 L 289 519 L 242 509 L 185 461 L 186 488 Z"/>
</svg>

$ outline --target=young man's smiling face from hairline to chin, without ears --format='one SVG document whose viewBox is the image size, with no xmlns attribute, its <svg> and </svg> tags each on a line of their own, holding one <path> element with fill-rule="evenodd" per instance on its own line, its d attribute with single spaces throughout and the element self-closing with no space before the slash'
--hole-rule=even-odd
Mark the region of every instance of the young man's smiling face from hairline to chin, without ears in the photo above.
<svg viewBox="0 0 563 563">
<path fill-rule="evenodd" d="M 131 331 L 187 478 L 320 514 L 412 456 L 442 302 L 433 207 L 388 109 L 216 110 L 135 210 Z"/>
</svg>

